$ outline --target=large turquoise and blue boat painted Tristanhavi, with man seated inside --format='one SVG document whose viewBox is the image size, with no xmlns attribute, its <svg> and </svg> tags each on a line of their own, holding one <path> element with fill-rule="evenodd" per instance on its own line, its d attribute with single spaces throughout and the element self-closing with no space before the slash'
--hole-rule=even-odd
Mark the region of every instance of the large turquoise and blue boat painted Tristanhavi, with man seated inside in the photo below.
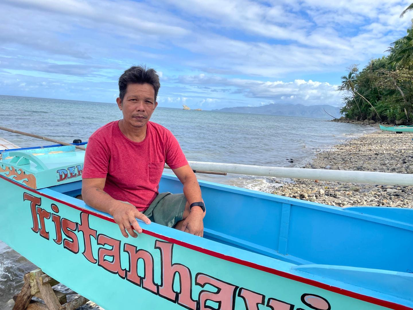
<svg viewBox="0 0 413 310">
<path fill-rule="evenodd" d="M 413 309 L 413 210 L 199 181 L 204 238 L 143 222 L 138 238 L 125 238 L 110 215 L 75 198 L 84 151 L 1 155 L 0 239 L 106 310 Z M 182 184 L 163 174 L 159 191 Z"/>
</svg>

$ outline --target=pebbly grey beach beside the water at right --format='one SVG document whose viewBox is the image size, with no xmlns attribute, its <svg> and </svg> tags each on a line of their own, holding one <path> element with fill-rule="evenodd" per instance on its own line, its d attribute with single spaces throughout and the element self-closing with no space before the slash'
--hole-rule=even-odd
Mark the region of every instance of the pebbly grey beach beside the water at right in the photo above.
<svg viewBox="0 0 413 310">
<path fill-rule="evenodd" d="M 374 131 L 317 153 L 302 168 L 413 174 L 413 133 Z M 272 192 L 338 207 L 390 206 L 413 208 L 413 186 L 359 184 L 293 179 Z"/>
</svg>

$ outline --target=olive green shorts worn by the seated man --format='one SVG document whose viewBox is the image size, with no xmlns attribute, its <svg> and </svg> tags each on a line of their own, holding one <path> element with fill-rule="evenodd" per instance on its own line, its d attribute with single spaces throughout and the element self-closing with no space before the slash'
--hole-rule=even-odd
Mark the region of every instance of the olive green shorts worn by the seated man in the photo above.
<svg viewBox="0 0 413 310">
<path fill-rule="evenodd" d="M 143 214 L 152 222 L 174 227 L 183 218 L 185 204 L 186 198 L 183 193 L 159 193 Z"/>
</svg>

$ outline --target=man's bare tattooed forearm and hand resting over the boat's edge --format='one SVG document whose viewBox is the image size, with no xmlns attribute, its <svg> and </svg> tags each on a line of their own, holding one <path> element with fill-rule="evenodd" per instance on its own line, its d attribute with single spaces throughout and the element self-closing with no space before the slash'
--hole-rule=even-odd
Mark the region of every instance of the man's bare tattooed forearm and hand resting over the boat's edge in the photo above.
<svg viewBox="0 0 413 310">
<path fill-rule="evenodd" d="M 133 229 L 138 231 L 139 234 L 142 232 L 142 228 L 140 228 L 136 219 L 141 219 L 146 224 L 150 224 L 150 219 L 142 212 L 139 212 L 135 206 L 116 200 L 103 191 L 105 182 L 106 178 L 83 179 L 83 200 L 87 205 L 112 215 L 124 237 L 128 238 L 128 233 L 126 232 L 128 231 L 132 237 L 136 238 L 138 235 L 135 234 Z"/>
</svg>

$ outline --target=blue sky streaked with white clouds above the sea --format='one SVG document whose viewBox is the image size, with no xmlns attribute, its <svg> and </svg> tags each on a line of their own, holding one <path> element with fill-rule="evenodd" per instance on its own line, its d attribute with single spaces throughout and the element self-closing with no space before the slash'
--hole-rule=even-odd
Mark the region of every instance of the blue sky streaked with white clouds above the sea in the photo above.
<svg viewBox="0 0 413 310">
<path fill-rule="evenodd" d="M 412 0 L 2 0 L 0 94 L 115 103 L 132 65 L 160 107 L 341 106 L 351 64 L 406 35 Z"/>
</svg>

